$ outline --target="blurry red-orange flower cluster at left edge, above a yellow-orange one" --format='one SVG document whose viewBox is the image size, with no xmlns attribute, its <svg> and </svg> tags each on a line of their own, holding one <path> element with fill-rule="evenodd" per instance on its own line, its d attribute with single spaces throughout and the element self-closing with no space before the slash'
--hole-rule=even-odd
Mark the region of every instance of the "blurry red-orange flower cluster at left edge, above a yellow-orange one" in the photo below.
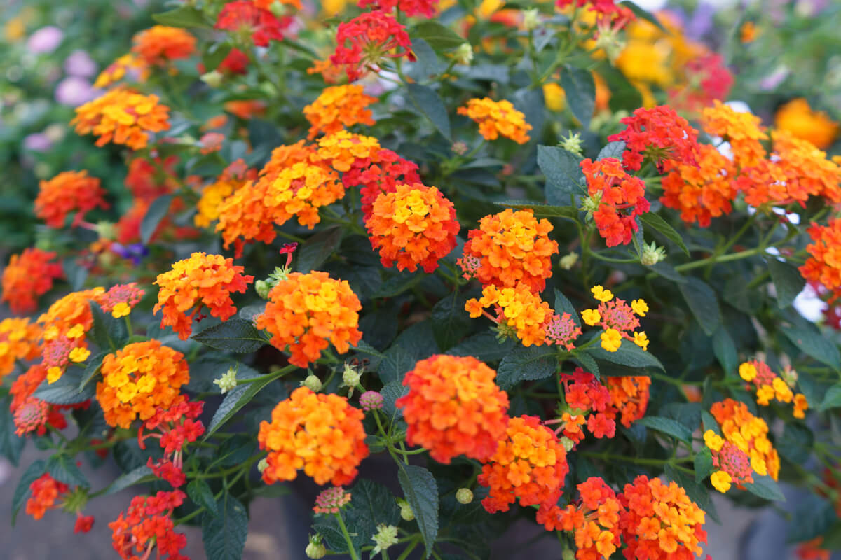
<svg viewBox="0 0 841 560">
<path fill-rule="evenodd" d="M 53 280 L 61 278 L 61 264 L 50 263 L 56 254 L 41 249 L 24 249 L 13 254 L 3 269 L 3 297 L 15 313 L 31 313 L 38 308 L 38 297 L 52 289 Z"/>
</svg>

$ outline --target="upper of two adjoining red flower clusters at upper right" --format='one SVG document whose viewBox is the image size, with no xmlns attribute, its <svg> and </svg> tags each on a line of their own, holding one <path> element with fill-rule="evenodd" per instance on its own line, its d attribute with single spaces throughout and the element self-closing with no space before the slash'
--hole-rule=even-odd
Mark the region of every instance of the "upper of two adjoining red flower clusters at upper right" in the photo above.
<svg viewBox="0 0 841 560">
<path fill-rule="evenodd" d="M 620 122 L 627 128 L 607 139 L 625 142 L 625 153 L 622 154 L 625 169 L 639 170 L 647 157 L 661 172 L 668 170 L 670 164 L 695 163 L 698 131 L 690 127 L 672 107 L 640 107 Z"/>
</svg>

